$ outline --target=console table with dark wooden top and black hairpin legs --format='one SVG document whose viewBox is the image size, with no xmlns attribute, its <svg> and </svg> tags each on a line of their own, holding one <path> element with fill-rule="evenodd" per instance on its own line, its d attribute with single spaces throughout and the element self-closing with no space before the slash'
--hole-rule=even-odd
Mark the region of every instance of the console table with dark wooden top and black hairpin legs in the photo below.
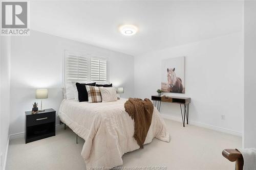
<svg viewBox="0 0 256 170">
<path fill-rule="evenodd" d="M 181 111 L 183 127 L 185 127 L 185 119 L 187 120 L 187 124 L 188 124 L 190 98 L 152 95 L 151 100 L 153 101 L 154 106 L 157 108 L 157 110 L 159 112 L 160 112 L 160 108 L 161 108 L 161 102 L 180 104 L 180 111 Z M 183 111 L 182 111 L 181 105 L 183 105 Z"/>
</svg>

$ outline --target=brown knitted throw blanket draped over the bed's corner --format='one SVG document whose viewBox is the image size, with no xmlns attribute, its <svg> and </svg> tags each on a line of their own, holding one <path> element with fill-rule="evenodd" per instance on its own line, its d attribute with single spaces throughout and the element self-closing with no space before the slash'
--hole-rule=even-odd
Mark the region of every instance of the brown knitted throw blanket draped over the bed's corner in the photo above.
<svg viewBox="0 0 256 170">
<path fill-rule="evenodd" d="M 129 98 L 124 104 L 125 111 L 134 119 L 134 138 L 143 148 L 147 131 L 150 129 L 154 106 L 149 99 Z"/>
</svg>

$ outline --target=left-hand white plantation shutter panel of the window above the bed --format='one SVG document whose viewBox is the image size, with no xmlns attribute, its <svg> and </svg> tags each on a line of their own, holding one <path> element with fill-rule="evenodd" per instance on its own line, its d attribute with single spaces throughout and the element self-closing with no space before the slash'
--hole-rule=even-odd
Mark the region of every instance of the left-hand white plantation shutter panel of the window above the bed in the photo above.
<svg viewBox="0 0 256 170">
<path fill-rule="evenodd" d="M 65 52 L 65 81 L 87 81 L 88 60 L 85 55 Z"/>
</svg>

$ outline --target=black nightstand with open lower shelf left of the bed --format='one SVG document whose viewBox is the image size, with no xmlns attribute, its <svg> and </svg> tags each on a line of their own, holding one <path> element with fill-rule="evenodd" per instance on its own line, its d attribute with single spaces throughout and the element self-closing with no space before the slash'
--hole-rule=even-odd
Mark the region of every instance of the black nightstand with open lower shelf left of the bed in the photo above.
<svg viewBox="0 0 256 170">
<path fill-rule="evenodd" d="M 53 109 L 32 114 L 25 112 L 25 141 L 26 143 L 55 136 L 55 114 Z"/>
</svg>

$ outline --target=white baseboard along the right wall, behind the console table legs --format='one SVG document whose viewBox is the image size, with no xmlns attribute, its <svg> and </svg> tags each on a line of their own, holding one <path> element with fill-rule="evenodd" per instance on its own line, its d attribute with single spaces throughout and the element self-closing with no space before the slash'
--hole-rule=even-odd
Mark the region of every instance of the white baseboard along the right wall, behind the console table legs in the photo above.
<svg viewBox="0 0 256 170">
<path fill-rule="evenodd" d="M 166 119 L 169 119 L 169 120 L 174 120 L 176 122 L 182 122 L 180 117 L 178 118 L 178 117 L 165 115 L 165 114 L 160 114 L 160 115 L 163 118 L 166 118 Z M 194 125 L 194 126 L 199 126 L 199 127 L 202 127 L 202 128 L 215 130 L 215 131 L 219 131 L 219 132 L 228 133 L 228 134 L 231 134 L 231 135 L 242 136 L 241 132 L 237 132 L 237 131 L 233 131 L 233 130 L 229 130 L 229 129 L 225 129 L 225 128 L 221 128 L 221 127 L 217 127 L 217 126 L 207 125 L 207 124 L 203 124 L 203 123 L 199 123 L 199 122 L 194 122 L 194 121 L 191 121 L 191 120 L 188 120 L 188 124 Z"/>
</svg>

